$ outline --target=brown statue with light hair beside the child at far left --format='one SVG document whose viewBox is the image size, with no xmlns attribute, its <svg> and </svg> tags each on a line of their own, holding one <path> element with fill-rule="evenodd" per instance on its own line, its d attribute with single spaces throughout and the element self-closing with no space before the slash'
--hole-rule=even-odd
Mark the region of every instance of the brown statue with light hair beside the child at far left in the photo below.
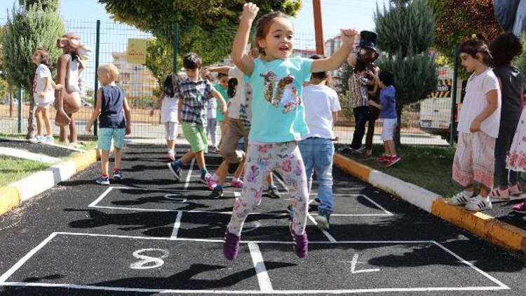
<svg viewBox="0 0 526 296">
<path fill-rule="evenodd" d="M 77 127 L 73 114 L 81 108 L 79 76 L 86 65 L 90 49 L 81 45 L 79 35 L 74 33 L 67 33 L 58 39 L 57 47 L 64 51 L 57 61 L 57 84 L 62 84 L 64 89 L 55 90 L 55 125 L 60 126 L 60 142 L 76 144 Z"/>
</svg>

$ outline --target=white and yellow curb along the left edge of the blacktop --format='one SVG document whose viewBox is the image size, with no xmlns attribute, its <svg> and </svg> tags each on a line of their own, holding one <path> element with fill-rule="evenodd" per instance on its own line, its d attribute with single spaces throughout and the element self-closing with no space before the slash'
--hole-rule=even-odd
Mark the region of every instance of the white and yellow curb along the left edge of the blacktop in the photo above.
<svg viewBox="0 0 526 296">
<path fill-rule="evenodd" d="M 97 152 L 93 149 L 69 161 L 58 163 L 22 180 L 0 187 L 0 215 L 15 208 L 22 201 L 27 201 L 33 196 L 54 187 L 59 182 L 68 180 L 95 161 L 97 161 Z"/>
</svg>

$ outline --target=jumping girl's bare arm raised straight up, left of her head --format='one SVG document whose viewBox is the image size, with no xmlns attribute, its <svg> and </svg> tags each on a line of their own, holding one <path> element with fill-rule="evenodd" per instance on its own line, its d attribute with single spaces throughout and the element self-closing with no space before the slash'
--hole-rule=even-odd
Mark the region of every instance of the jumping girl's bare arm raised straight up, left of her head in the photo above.
<svg viewBox="0 0 526 296">
<path fill-rule="evenodd" d="M 232 61 L 241 72 L 250 75 L 254 71 L 254 60 L 246 53 L 248 39 L 250 37 L 250 27 L 256 18 L 259 8 L 252 3 L 243 5 L 243 13 L 239 22 L 238 32 L 232 46 Z"/>
</svg>

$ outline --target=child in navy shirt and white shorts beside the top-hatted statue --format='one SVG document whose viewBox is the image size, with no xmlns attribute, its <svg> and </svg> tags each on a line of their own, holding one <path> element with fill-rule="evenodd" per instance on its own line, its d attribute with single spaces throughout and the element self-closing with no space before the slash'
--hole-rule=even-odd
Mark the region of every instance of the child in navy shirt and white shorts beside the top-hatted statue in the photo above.
<svg viewBox="0 0 526 296">
<path fill-rule="evenodd" d="M 380 109 L 379 118 L 384 121 L 382 126 L 382 141 L 384 141 L 385 154 L 378 158 L 379 162 L 385 162 L 385 166 L 393 166 L 400 161 L 400 156 L 396 155 L 395 143 L 393 141 L 394 130 L 398 125 L 396 115 L 396 88 L 393 86 L 394 76 L 391 72 L 382 70 L 378 76 L 371 71 L 367 72 L 375 77 L 377 86 L 380 90 L 380 104 L 369 100 L 369 105 Z"/>
</svg>

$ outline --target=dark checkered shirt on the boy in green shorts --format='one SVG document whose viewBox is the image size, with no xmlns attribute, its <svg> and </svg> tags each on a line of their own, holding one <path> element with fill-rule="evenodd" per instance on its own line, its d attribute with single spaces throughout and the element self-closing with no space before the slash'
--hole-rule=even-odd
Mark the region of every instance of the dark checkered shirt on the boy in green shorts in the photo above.
<svg viewBox="0 0 526 296">
<path fill-rule="evenodd" d="M 181 121 L 205 126 L 206 101 L 210 100 L 213 91 L 212 83 L 208 80 L 191 81 L 181 79 L 176 96 L 182 98 Z"/>
</svg>

